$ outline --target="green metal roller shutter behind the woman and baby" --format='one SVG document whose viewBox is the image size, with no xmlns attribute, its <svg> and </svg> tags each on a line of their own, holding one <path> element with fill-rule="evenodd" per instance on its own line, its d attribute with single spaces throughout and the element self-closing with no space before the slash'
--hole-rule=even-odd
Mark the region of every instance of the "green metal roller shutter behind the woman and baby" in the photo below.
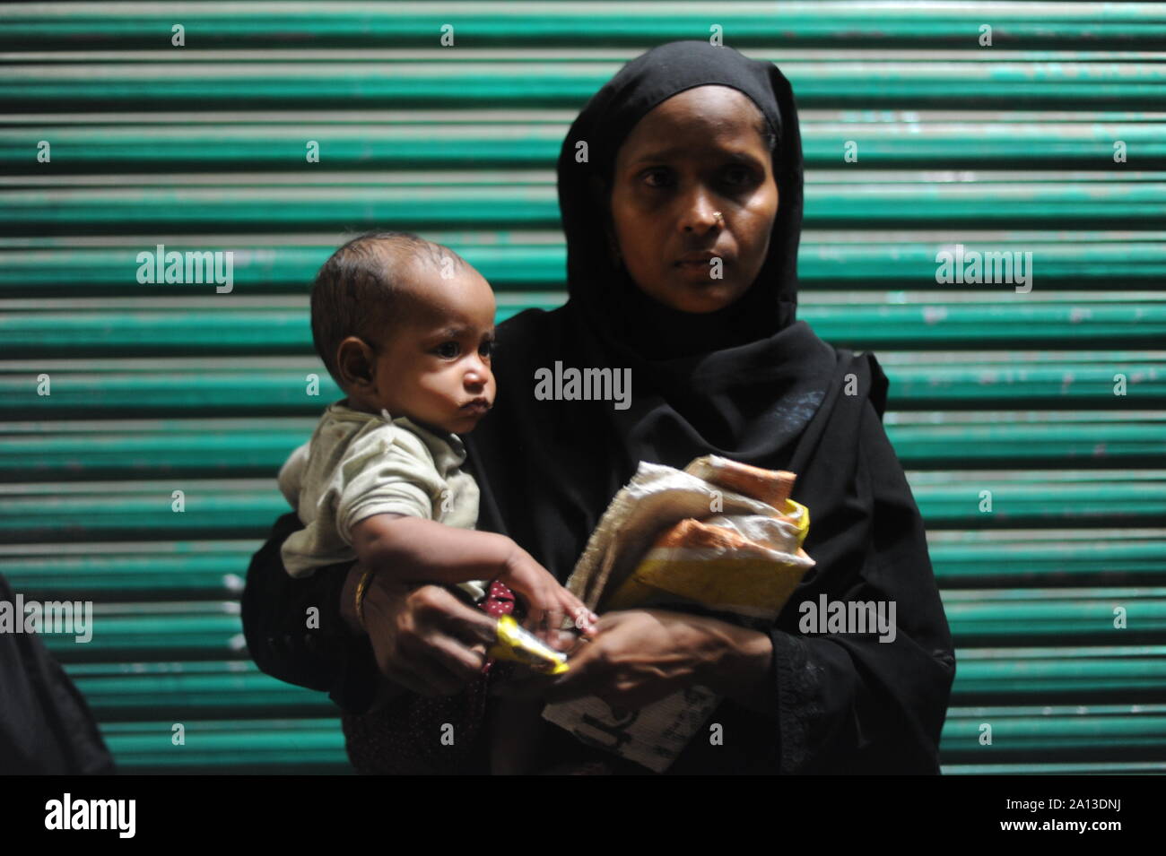
<svg viewBox="0 0 1166 856">
<path fill-rule="evenodd" d="M 96 602 L 48 642 L 124 770 L 347 769 L 238 609 L 337 394 L 308 283 L 401 227 L 500 318 L 557 305 L 568 123 L 716 27 L 798 95 L 800 316 L 891 379 L 958 648 L 944 770 L 1166 770 L 1166 3 L 7 5 L 0 572 Z M 233 290 L 139 283 L 157 245 L 231 250 Z M 1031 291 L 937 283 L 955 245 L 1032 253 Z"/>
</svg>

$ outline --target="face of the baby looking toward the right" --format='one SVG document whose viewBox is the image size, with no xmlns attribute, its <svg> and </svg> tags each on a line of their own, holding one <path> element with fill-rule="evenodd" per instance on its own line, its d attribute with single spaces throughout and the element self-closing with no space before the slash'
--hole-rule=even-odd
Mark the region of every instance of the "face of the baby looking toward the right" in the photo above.
<svg viewBox="0 0 1166 856">
<path fill-rule="evenodd" d="M 449 280 L 433 269 L 417 270 L 414 283 L 424 306 L 410 312 L 380 348 L 375 408 L 468 433 L 494 403 L 493 291 L 469 267 Z"/>
</svg>

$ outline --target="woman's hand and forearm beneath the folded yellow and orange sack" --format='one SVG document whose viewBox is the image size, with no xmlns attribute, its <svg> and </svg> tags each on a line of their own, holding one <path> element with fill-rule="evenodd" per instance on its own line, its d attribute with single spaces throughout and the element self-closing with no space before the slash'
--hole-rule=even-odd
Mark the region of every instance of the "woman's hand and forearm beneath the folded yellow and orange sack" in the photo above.
<svg viewBox="0 0 1166 856">
<path fill-rule="evenodd" d="M 684 687 L 702 685 L 750 707 L 765 707 L 773 645 L 766 634 L 666 609 L 607 613 L 596 635 L 571 652 L 570 671 L 499 687 L 500 695 L 548 702 L 585 695 L 638 710 Z"/>
</svg>

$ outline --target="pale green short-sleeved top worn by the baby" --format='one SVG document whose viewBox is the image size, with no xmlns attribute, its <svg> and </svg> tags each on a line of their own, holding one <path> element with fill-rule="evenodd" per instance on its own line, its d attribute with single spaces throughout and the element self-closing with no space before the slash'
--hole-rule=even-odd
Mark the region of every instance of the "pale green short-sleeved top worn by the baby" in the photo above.
<svg viewBox="0 0 1166 856">
<path fill-rule="evenodd" d="M 424 517 L 473 529 L 478 486 L 463 473 L 465 445 L 457 434 L 417 425 L 405 416 L 386 419 L 342 399 L 324 411 L 311 439 L 280 469 L 280 491 L 304 528 L 283 542 L 283 566 L 292 576 L 351 561 L 352 528 L 375 514 Z M 483 581 L 458 583 L 475 600 Z"/>
</svg>

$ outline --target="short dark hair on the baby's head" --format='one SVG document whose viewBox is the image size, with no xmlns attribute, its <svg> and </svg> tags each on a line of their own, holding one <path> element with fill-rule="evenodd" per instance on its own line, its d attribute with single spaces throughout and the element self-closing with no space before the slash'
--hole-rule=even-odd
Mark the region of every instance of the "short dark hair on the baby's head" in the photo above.
<svg viewBox="0 0 1166 856">
<path fill-rule="evenodd" d="M 311 339 L 332 380 L 340 384 L 336 352 L 350 335 L 374 346 L 416 309 L 410 285 L 416 268 L 468 267 L 462 256 L 412 232 L 367 232 L 324 262 L 311 288 Z M 343 385 L 343 384 L 340 384 Z"/>
</svg>

